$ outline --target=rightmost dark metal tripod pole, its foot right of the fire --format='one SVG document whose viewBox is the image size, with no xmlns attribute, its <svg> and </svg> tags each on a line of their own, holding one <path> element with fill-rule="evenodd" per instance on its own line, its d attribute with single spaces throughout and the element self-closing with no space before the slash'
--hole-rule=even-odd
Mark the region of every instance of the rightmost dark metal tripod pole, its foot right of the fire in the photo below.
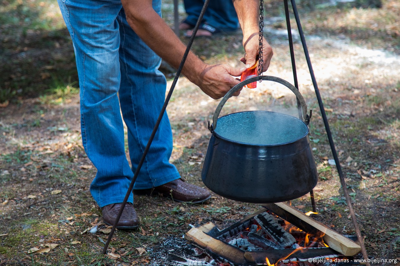
<svg viewBox="0 0 400 266">
<path fill-rule="evenodd" d="M 361 232 L 360 232 L 360 228 L 358 227 L 356 215 L 354 213 L 354 209 L 352 207 L 351 199 L 350 199 L 350 196 L 349 196 L 349 193 L 348 193 L 348 190 L 347 190 L 346 181 L 344 180 L 342 167 L 340 166 L 338 154 L 336 152 L 335 144 L 333 142 L 332 132 L 330 131 L 328 118 L 326 117 L 324 104 L 322 103 L 322 98 L 321 98 L 321 95 L 320 95 L 320 91 L 318 89 L 317 81 L 315 79 L 314 71 L 312 69 L 310 55 L 308 53 L 306 39 L 304 38 L 304 32 L 303 32 L 303 29 L 302 29 L 302 26 L 301 26 L 301 23 L 300 23 L 300 18 L 299 18 L 299 15 L 298 15 L 296 3 L 295 3 L 295 0 L 290 0 L 290 2 L 292 2 L 292 8 L 293 8 L 293 12 L 294 12 L 294 17 L 296 18 L 297 28 L 298 28 L 299 33 L 300 33 L 300 38 L 301 38 L 301 41 L 302 41 L 302 44 L 303 44 L 304 54 L 306 55 L 307 65 L 308 65 L 308 69 L 310 71 L 312 84 L 314 85 L 315 94 L 316 94 L 316 97 L 318 99 L 318 104 L 320 106 L 322 119 L 324 120 L 324 125 L 325 125 L 325 129 L 326 129 L 326 134 L 328 136 L 329 145 L 330 145 L 330 148 L 332 150 L 332 155 L 333 155 L 333 158 L 334 158 L 335 163 L 336 163 L 336 168 L 338 169 L 338 174 L 339 174 L 339 178 L 340 178 L 340 183 L 342 184 L 344 197 L 346 197 L 347 207 L 349 209 L 350 216 L 351 216 L 352 221 L 353 221 L 354 230 L 356 231 L 358 242 L 360 242 L 362 255 L 363 255 L 364 259 L 366 261 L 368 261 L 368 254 L 367 254 L 367 251 L 366 251 L 365 246 L 364 246 L 364 239 L 362 238 L 362 235 L 361 235 Z M 366 262 L 366 265 L 370 266 L 370 263 Z"/>
</svg>

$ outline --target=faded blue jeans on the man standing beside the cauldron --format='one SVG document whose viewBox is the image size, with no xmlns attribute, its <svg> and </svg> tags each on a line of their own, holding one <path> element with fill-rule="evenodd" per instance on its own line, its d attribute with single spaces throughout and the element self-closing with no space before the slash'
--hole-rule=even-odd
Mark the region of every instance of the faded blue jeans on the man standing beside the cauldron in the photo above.
<svg viewBox="0 0 400 266">
<path fill-rule="evenodd" d="M 100 207 L 123 201 L 165 99 L 161 59 L 130 28 L 120 0 L 58 0 L 72 37 L 80 86 L 82 142 L 97 168 L 90 192 Z M 153 8 L 161 15 L 161 1 Z M 119 96 L 119 97 L 118 97 Z M 124 126 L 132 169 L 126 158 Z M 180 177 L 170 164 L 164 113 L 136 180 L 148 189 Z M 133 202 L 131 193 L 128 202 Z"/>
</svg>

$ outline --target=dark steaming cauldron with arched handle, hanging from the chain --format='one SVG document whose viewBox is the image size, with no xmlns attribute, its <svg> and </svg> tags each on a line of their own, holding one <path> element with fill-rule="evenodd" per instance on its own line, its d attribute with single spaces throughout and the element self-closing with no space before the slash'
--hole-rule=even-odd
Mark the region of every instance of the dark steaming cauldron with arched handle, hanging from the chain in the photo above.
<svg viewBox="0 0 400 266">
<path fill-rule="evenodd" d="M 274 81 L 297 97 L 304 120 L 270 111 L 244 111 L 218 118 L 225 102 L 243 86 Z M 296 199 L 317 184 L 308 137 L 307 106 L 300 92 L 278 77 L 252 77 L 233 87 L 218 104 L 202 169 L 204 184 L 236 201 L 275 203 Z M 217 126 L 218 125 L 218 126 Z"/>
</svg>

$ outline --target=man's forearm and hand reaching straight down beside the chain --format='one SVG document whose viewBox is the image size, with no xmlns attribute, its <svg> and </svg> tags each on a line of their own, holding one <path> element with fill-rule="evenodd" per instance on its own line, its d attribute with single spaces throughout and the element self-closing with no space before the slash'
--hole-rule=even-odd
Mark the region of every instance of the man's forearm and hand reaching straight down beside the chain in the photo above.
<svg viewBox="0 0 400 266">
<path fill-rule="evenodd" d="M 260 1 L 233 0 L 233 5 L 236 13 L 238 14 L 240 28 L 242 28 L 243 47 L 246 53 L 244 57 L 240 59 L 240 61 L 246 64 L 246 68 L 249 68 L 256 63 L 256 57 L 258 55 Z M 270 65 L 270 61 L 274 53 L 272 52 L 272 48 L 265 38 L 263 38 L 262 46 L 262 55 L 264 60 L 263 70 L 266 71 Z"/>
</svg>

